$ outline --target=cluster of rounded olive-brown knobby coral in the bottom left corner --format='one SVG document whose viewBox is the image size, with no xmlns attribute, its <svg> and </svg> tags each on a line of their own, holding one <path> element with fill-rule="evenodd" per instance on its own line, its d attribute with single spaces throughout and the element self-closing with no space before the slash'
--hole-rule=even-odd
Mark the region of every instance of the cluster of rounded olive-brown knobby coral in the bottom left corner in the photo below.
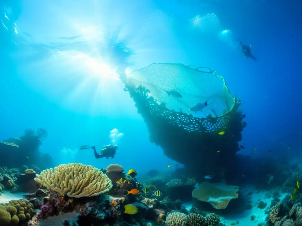
<svg viewBox="0 0 302 226">
<path fill-rule="evenodd" d="M 29 221 L 34 215 L 34 206 L 26 199 L 11 200 L 0 204 L 0 225 L 17 225 Z"/>
</svg>

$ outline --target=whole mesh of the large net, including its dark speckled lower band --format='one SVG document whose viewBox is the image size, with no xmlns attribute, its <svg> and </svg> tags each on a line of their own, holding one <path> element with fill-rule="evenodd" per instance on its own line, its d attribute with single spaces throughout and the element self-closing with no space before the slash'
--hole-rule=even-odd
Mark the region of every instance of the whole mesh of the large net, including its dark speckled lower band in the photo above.
<svg viewBox="0 0 302 226">
<path fill-rule="evenodd" d="M 230 94 L 223 77 L 210 69 L 200 69 L 183 64 L 151 64 L 130 73 L 126 88 L 140 105 L 137 107 L 142 115 L 151 114 L 191 132 L 215 132 L 226 127 L 236 99 Z M 182 98 L 168 96 L 165 90 L 176 90 Z M 206 100 L 208 106 L 202 109 L 202 118 L 189 111 L 189 106 Z M 211 117 L 213 111 L 217 115 L 215 118 Z"/>
</svg>

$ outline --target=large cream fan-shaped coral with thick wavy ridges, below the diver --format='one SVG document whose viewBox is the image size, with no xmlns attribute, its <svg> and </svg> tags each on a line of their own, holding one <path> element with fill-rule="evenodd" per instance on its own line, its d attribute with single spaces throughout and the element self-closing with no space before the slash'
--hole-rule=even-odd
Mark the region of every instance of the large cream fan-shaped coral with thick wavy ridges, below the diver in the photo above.
<svg viewBox="0 0 302 226">
<path fill-rule="evenodd" d="M 53 169 L 43 170 L 34 179 L 48 189 L 69 197 L 88 197 L 108 193 L 111 180 L 97 168 L 81 163 L 62 164 Z"/>
</svg>

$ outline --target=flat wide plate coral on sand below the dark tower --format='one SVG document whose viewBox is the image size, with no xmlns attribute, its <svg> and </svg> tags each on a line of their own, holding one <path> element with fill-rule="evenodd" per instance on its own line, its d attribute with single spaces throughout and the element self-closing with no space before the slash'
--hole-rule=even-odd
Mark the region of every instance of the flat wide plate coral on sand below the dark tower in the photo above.
<svg viewBox="0 0 302 226">
<path fill-rule="evenodd" d="M 215 209 L 225 209 L 231 199 L 238 198 L 239 187 L 204 181 L 192 191 L 192 197 L 209 202 Z"/>
</svg>

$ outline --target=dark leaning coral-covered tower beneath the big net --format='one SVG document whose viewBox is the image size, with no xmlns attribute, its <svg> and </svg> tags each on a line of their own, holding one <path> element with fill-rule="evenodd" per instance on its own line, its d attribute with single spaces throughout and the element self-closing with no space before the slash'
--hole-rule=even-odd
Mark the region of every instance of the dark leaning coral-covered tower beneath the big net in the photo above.
<svg viewBox="0 0 302 226">
<path fill-rule="evenodd" d="M 150 141 L 161 146 L 167 157 L 185 165 L 188 174 L 202 180 L 207 174 L 224 173 L 233 177 L 234 172 L 239 172 L 234 170 L 236 163 L 229 163 L 237 161 L 235 153 L 239 151 L 238 142 L 246 126 L 245 115 L 239 110 L 240 101 L 222 117 L 196 118 L 165 107 L 165 103 L 157 102 L 143 86 L 127 84 L 125 90 L 144 118 Z M 223 136 L 218 135 L 218 129 L 225 131 Z"/>
</svg>

